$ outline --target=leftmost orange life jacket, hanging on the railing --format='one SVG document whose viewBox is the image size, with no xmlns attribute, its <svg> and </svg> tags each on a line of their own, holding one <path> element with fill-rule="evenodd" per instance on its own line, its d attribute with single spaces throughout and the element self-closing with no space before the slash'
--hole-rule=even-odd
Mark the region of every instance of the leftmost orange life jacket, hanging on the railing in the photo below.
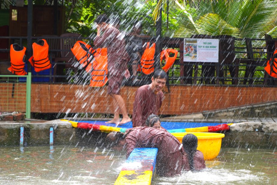
<svg viewBox="0 0 277 185">
<path fill-rule="evenodd" d="M 25 51 L 26 47 L 21 47 L 19 44 L 10 45 L 10 64 L 8 70 L 16 75 L 26 75 L 25 71 Z"/>
</svg>

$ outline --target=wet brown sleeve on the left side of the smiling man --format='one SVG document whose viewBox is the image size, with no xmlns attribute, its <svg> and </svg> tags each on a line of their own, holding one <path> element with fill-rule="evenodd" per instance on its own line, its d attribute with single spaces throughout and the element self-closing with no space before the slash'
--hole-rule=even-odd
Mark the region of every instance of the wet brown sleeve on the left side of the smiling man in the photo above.
<svg viewBox="0 0 277 185">
<path fill-rule="evenodd" d="M 141 89 L 138 89 L 135 95 L 135 102 L 133 105 L 133 127 L 144 126 L 145 123 L 142 121 L 142 111 L 144 109 L 144 93 Z"/>
</svg>

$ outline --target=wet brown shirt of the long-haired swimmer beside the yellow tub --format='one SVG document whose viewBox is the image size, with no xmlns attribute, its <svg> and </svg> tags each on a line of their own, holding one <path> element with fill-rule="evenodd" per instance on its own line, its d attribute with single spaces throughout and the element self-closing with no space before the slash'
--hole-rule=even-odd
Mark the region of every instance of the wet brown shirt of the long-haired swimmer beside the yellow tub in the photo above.
<svg viewBox="0 0 277 185">
<path fill-rule="evenodd" d="M 183 169 L 186 170 L 186 171 L 189 171 L 190 170 L 190 167 L 189 167 L 189 159 L 187 157 L 187 154 L 184 153 L 184 158 L 183 158 Z M 193 166 L 194 166 L 194 169 L 195 170 L 201 170 L 201 169 L 204 169 L 206 168 L 206 165 L 205 165 L 205 160 L 204 160 L 204 155 L 201 151 L 197 150 L 194 154 L 194 157 L 193 157 Z"/>
</svg>

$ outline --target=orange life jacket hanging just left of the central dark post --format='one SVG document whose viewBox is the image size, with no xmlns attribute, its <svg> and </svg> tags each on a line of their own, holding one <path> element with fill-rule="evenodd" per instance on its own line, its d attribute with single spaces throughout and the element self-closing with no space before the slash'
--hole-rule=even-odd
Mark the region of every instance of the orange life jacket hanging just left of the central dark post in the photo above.
<svg viewBox="0 0 277 185">
<path fill-rule="evenodd" d="M 155 56 L 155 46 L 156 44 L 153 43 L 152 47 L 149 47 L 149 42 L 147 42 L 146 49 L 141 56 L 140 64 L 141 64 L 141 71 L 144 74 L 151 74 L 154 72 L 154 56 Z"/>
</svg>

